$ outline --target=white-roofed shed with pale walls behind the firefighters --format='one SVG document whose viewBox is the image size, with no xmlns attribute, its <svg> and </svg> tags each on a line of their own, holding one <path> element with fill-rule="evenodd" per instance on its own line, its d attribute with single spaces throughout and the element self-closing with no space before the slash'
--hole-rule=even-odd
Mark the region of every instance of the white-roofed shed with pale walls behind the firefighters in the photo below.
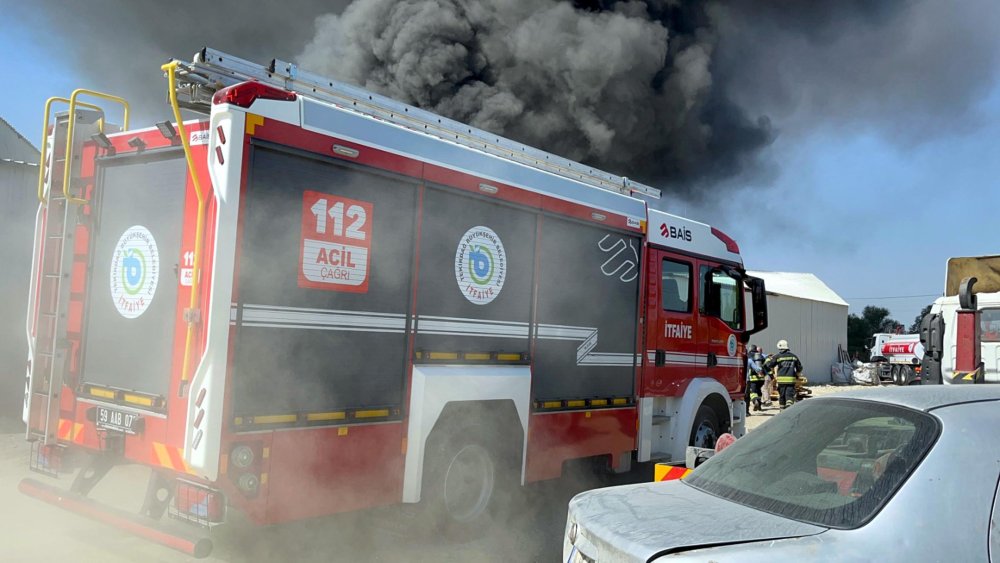
<svg viewBox="0 0 1000 563">
<path fill-rule="evenodd" d="M 763 278 L 767 289 L 768 327 L 750 343 L 773 354 L 778 340 L 787 340 L 809 381 L 829 383 L 837 346 L 847 349 L 847 302 L 813 274 L 747 273 Z"/>
</svg>

